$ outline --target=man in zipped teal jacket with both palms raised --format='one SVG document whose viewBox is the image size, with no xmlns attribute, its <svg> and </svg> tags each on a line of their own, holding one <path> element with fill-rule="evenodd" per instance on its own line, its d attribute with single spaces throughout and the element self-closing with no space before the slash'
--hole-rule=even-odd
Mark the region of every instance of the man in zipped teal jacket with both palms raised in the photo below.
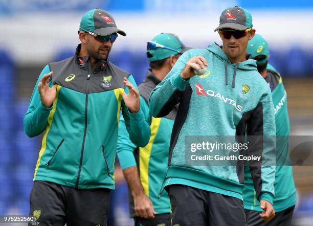
<svg viewBox="0 0 313 226">
<path fill-rule="evenodd" d="M 120 110 L 133 143 L 144 147 L 150 138 L 135 80 L 108 60 L 125 32 L 108 12 L 94 9 L 78 33 L 75 56 L 40 73 L 24 116 L 29 137 L 44 131 L 29 225 L 106 225 Z"/>
</svg>

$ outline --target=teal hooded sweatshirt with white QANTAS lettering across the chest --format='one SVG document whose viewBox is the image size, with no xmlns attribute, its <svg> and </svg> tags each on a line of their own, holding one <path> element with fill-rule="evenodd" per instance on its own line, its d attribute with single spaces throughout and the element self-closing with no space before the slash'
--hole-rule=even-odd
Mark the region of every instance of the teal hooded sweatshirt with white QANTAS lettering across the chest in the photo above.
<svg viewBox="0 0 313 226">
<path fill-rule="evenodd" d="M 207 71 L 202 76 L 182 79 L 180 74 L 187 61 L 196 56 L 207 60 Z M 250 155 L 260 157 L 259 161 L 250 165 L 250 169 L 256 197 L 272 203 L 275 195 L 274 106 L 271 89 L 258 73 L 256 61 L 248 59 L 231 63 L 214 42 L 206 49 L 185 52 L 151 92 L 151 115 L 163 117 L 177 103 L 180 106 L 171 135 L 165 188 L 181 184 L 242 200 L 244 162 L 237 158 L 224 161 L 223 165 L 216 164 L 216 161 L 206 161 L 205 165 L 190 163 L 192 161 L 185 159 L 190 153 L 186 143 L 190 137 L 197 140 L 203 136 L 216 136 L 218 142 L 222 142 L 229 136 L 234 143 L 243 143 L 244 139 L 249 141 L 259 136 L 261 141 L 257 139 L 249 145 Z M 266 139 L 263 139 L 265 136 Z M 242 151 L 223 154 L 238 157 Z M 215 157 L 214 153 L 219 152 L 213 150 L 206 153 Z"/>
</svg>

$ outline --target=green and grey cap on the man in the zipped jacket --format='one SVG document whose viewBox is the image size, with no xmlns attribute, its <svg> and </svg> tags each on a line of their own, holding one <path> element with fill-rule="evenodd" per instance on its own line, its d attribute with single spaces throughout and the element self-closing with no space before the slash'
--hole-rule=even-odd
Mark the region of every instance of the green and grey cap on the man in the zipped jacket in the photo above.
<svg viewBox="0 0 313 226">
<path fill-rule="evenodd" d="M 80 20 L 79 31 L 93 32 L 105 36 L 119 33 L 126 36 L 126 33 L 116 27 L 115 20 L 111 14 L 102 9 L 92 9 L 86 12 Z"/>
</svg>

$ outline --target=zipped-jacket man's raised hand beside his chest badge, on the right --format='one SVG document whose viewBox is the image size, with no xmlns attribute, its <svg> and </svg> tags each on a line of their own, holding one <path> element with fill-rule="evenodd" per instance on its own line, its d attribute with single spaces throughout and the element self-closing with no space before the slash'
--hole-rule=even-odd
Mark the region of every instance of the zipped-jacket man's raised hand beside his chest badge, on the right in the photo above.
<svg viewBox="0 0 313 226">
<path fill-rule="evenodd" d="M 125 102 L 125 105 L 128 107 L 130 112 L 136 113 L 140 109 L 140 99 L 139 99 L 139 93 L 135 86 L 133 86 L 127 78 L 124 78 L 124 84 L 128 87 L 129 93 L 126 94 L 123 93 L 123 99 Z"/>
</svg>

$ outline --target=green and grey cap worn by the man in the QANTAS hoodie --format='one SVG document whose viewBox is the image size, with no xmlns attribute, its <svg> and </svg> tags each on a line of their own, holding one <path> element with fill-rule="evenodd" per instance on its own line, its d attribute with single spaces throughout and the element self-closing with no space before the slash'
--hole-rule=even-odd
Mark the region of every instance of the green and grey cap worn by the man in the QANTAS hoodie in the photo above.
<svg viewBox="0 0 313 226">
<path fill-rule="evenodd" d="M 235 6 L 222 11 L 219 17 L 219 26 L 214 31 L 224 28 L 242 31 L 252 28 L 252 26 L 251 13 L 247 9 Z"/>
</svg>

